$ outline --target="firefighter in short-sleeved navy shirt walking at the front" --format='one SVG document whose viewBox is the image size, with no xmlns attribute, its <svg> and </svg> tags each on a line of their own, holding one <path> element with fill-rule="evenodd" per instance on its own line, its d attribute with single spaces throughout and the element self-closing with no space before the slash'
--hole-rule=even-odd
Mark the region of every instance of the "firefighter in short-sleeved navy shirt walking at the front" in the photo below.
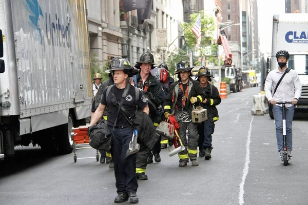
<svg viewBox="0 0 308 205">
<path fill-rule="evenodd" d="M 106 108 L 108 108 L 108 128 L 112 133 L 111 154 L 114 162 L 115 187 L 118 193 L 114 202 L 124 202 L 129 199 L 131 203 L 138 203 L 139 198 L 136 195 L 138 181 L 135 173 L 136 154 L 131 154 L 126 157 L 129 142 L 132 139 L 132 126 L 126 120 L 124 114 L 118 110 L 117 105 L 121 102 L 120 105 L 123 106 L 122 108 L 125 108 L 127 112 L 133 115 L 136 113 L 136 109 L 142 109 L 145 113 L 149 113 L 149 110 L 141 92 L 139 94 L 138 106 L 136 107 L 136 89 L 132 86 L 129 87 L 126 97 L 122 97 L 128 85 L 126 78 L 138 72 L 131 67 L 129 61 L 125 58 L 113 58 L 110 71 L 113 72 L 115 86 L 112 87 L 108 96 L 106 96 L 107 88 L 103 91 L 100 105 L 92 115 L 89 126 L 97 123 L 103 116 Z M 134 116 L 131 117 L 134 118 Z"/>
</svg>

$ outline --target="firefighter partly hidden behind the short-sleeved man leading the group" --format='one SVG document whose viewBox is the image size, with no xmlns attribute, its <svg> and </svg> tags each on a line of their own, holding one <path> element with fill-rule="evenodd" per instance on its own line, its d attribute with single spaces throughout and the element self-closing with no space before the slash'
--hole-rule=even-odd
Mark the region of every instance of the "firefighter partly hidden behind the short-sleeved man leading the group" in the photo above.
<svg viewBox="0 0 308 205">
<path fill-rule="evenodd" d="M 150 117 L 154 126 L 158 126 L 161 122 L 161 116 L 158 112 L 158 107 L 162 103 L 162 87 L 160 82 L 151 74 L 151 69 L 154 69 L 154 57 L 151 53 L 146 52 L 140 56 L 140 60 L 136 62 L 136 68 L 140 69 L 140 72 L 134 76 L 134 84 L 143 91 L 143 94 L 147 98 L 148 106 L 150 110 Z M 136 175 L 140 180 L 147 180 L 148 177 L 145 174 L 145 170 L 148 162 L 154 160 L 160 162 L 160 138 L 155 144 L 153 150 L 149 150 L 143 144 L 140 145 L 140 150 L 137 153 L 136 161 Z M 149 157 L 149 160 L 148 160 Z"/>
</svg>

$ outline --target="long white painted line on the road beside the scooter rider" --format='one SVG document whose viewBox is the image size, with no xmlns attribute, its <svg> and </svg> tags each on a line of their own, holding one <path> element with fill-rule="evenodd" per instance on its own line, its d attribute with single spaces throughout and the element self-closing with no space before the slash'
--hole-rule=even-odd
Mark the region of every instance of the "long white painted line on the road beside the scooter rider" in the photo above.
<svg viewBox="0 0 308 205">
<path fill-rule="evenodd" d="M 250 142 L 251 142 L 251 136 L 252 136 L 252 126 L 253 126 L 254 116 L 252 118 L 252 121 L 249 126 L 248 135 L 246 139 L 246 157 L 245 157 L 245 165 L 243 169 L 243 176 L 242 176 L 242 182 L 240 184 L 240 193 L 239 193 L 239 204 L 244 204 L 244 184 L 245 179 L 248 174 L 249 170 L 249 162 L 250 162 Z"/>
</svg>

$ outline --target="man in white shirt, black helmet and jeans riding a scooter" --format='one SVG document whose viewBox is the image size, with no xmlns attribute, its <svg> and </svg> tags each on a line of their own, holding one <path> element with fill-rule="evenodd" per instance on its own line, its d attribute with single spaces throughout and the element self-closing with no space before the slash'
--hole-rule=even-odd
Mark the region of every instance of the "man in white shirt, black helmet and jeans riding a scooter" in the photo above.
<svg viewBox="0 0 308 205">
<path fill-rule="evenodd" d="M 286 120 L 286 147 L 288 156 L 292 157 L 292 120 L 294 116 L 294 105 L 297 104 L 301 96 L 301 83 L 297 72 L 291 69 L 285 74 L 281 80 L 276 92 L 273 92 L 280 80 L 281 76 L 286 72 L 286 63 L 290 54 L 281 50 L 276 53 L 278 61 L 278 69 L 272 70 L 268 73 L 265 81 L 265 95 L 269 103 L 273 105 L 273 114 L 276 125 L 277 146 L 280 157 L 283 153 L 283 134 L 282 134 L 282 105 L 276 105 L 276 101 L 292 101 L 292 104 L 285 105 L 285 120 Z M 295 93 L 294 93 L 295 90 Z"/>
</svg>

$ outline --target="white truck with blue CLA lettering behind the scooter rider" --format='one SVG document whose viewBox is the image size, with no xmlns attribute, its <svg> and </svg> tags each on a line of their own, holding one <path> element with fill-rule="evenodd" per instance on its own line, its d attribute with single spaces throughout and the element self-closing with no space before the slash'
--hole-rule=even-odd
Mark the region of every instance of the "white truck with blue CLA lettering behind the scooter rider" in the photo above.
<svg viewBox="0 0 308 205">
<path fill-rule="evenodd" d="M 279 50 L 290 53 L 287 67 L 294 69 L 302 84 L 302 93 L 295 106 L 295 112 L 308 111 L 308 14 L 307 13 L 285 13 L 273 16 L 273 41 L 270 68 L 278 68 L 274 55 Z M 271 118 L 273 112 L 269 111 Z"/>
</svg>

